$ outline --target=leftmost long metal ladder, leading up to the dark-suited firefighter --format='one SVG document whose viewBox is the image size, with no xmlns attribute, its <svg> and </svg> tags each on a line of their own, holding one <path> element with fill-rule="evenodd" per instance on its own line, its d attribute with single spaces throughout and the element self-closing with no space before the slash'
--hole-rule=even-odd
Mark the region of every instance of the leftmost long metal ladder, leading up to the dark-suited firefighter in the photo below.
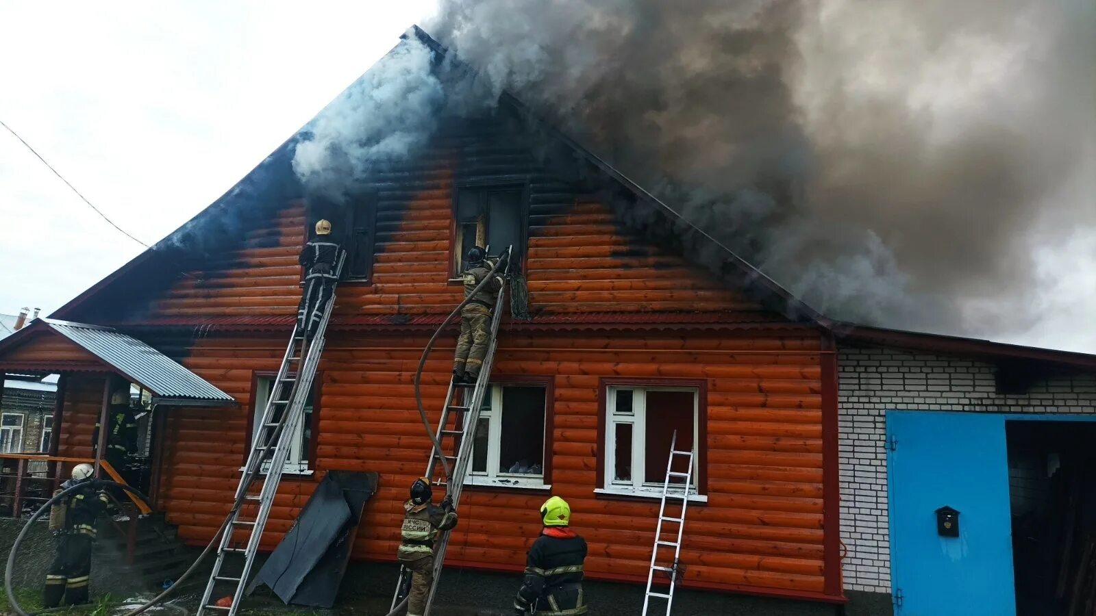
<svg viewBox="0 0 1096 616">
<path fill-rule="evenodd" d="M 340 251 L 339 263 L 335 265 L 336 285 L 342 275 L 345 260 L 346 251 Z M 270 516 L 274 497 L 277 494 L 278 482 L 282 480 L 282 471 L 285 468 L 285 459 L 289 455 L 294 432 L 304 415 L 308 391 L 316 377 L 316 368 L 320 364 L 320 355 L 323 353 L 323 336 L 328 329 L 328 321 L 331 320 L 331 310 L 334 304 L 335 294 L 332 292 L 328 305 L 323 308 L 323 317 L 317 324 L 316 333 L 311 336 L 308 335 L 308 313 L 305 315 L 302 326 L 294 326 L 293 328 L 293 335 L 289 338 L 289 344 L 282 357 L 282 367 L 278 368 L 274 387 L 266 400 L 266 407 L 263 409 L 259 430 L 255 431 L 255 436 L 252 440 L 251 453 L 248 454 L 248 461 L 243 467 L 243 476 L 236 489 L 233 502 L 241 502 L 241 498 L 243 500 L 240 506 L 229 514 L 228 526 L 221 535 L 220 546 L 217 549 L 217 561 L 213 566 L 213 573 L 209 574 L 209 582 L 202 595 L 198 616 L 207 614 L 207 611 L 227 612 L 228 616 L 235 616 L 240 607 L 248 577 L 254 564 L 255 554 L 259 551 L 259 543 L 262 539 L 263 529 L 266 527 L 266 518 Z M 301 358 L 304 358 L 302 364 Z M 270 468 L 263 478 L 262 467 L 267 460 Z M 255 491 L 253 488 L 258 481 L 262 482 L 262 487 Z M 240 547 L 243 541 L 233 540 L 232 536 L 236 531 L 246 533 L 247 545 L 244 547 Z M 226 558 L 236 554 L 243 555 L 243 567 L 239 578 L 222 574 L 221 569 L 225 567 Z M 222 588 L 233 589 L 231 605 L 228 607 L 216 604 L 214 588 L 218 584 Z"/>
</svg>

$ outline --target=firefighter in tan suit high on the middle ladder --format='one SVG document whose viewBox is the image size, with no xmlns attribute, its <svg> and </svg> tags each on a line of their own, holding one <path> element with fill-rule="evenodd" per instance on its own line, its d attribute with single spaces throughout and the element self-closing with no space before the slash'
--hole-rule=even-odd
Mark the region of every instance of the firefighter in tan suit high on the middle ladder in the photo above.
<svg viewBox="0 0 1096 616">
<path fill-rule="evenodd" d="M 453 378 L 456 383 L 476 383 L 479 377 L 483 357 L 487 356 L 491 310 L 499 289 L 505 283 L 498 272 L 491 273 L 495 262 L 487 258 L 487 251 L 482 248 L 472 247 L 468 250 L 467 258 L 465 298 L 471 299 L 460 309 L 460 336 L 457 338 L 457 354 L 453 360 Z M 488 276 L 491 280 L 473 295 L 477 285 Z"/>
</svg>

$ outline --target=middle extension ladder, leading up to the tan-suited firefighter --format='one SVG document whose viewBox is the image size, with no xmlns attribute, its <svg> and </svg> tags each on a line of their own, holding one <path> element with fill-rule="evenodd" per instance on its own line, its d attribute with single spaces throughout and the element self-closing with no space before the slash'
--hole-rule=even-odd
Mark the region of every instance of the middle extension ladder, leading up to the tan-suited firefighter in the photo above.
<svg viewBox="0 0 1096 616">
<path fill-rule="evenodd" d="M 506 264 L 503 266 L 503 273 L 505 274 L 510 270 L 510 251 L 507 250 L 504 255 Z M 456 510 L 457 504 L 460 502 L 460 493 L 465 487 L 465 474 L 468 471 L 468 460 L 471 459 L 472 443 L 475 442 L 475 438 L 465 438 L 464 435 L 468 431 L 476 430 L 480 407 L 483 403 L 483 396 L 490 388 L 491 368 L 494 365 L 494 350 L 499 345 L 499 323 L 502 322 L 503 300 L 505 297 L 506 284 L 503 284 L 502 288 L 499 289 L 499 295 L 495 297 L 494 311 L 491 315 L 491 330 L 488 332 L 490 340 L 488 342 L 487 354 L 483 356 L 483 365 L 480 367 L 476 383 L 467 385 L 456 384 L 453 383 L 452 378 L 449 379 L 449 389 L 445 393 L 445 406 L 442 408 L 442 419 L 437 422 L 437 432 L 435 435 L 442 447 L 446 447 L 444 440 L 450 438 L 448 446 L 453 447 L 456 455 L 447 455 L 445 450 L 438 452 L 437 447 L 432 445 L 430 461 L 426 464 L 426 472 L 423 475 L 423 477 L 429 477 L 431 483 L 434 486 L 441 486 L 446 489 L 446 492 L 453 497 L 454 510 Z M 461 403 L 456 403 L 457 398 L 460 398 Z M 450 420 L 452 425 L 449 425 Z M 445 480 L 444 465 L 442 465 L 441 460 L 443 457 L 449 461 L 453 468 L 452 483 Z M 443 472 L 443 476 L 437 478 L 439 470 Z M 448 547 L 449 532 L 445 531 L 434 544 L 434 580 L 431 583 L 430 593 L 426 595 L 426 606 L 423 609 L 423 616 L 430 616 L 430 608 L 434 605 L 434 593 L 437 590 L 437 581 L 442 578 L 442 566 L 445 562 L 445 550 Z M 410 588 L 410 575 L 411 571 L 400 566 L 400 579 L 396 585 L 396 594 L 392 595 L 392 606 L 390 609 L 396 609 L 396 605 L 403 600 L 406 590 Z"/>
</svg>

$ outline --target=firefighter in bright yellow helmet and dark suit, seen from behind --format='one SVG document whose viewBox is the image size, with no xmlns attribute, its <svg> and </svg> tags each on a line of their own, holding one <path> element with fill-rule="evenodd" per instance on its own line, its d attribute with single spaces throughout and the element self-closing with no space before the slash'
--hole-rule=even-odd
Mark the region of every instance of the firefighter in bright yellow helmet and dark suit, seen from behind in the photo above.
<svg viewBox="0 0 1096 616">
<path fill-rule="evenodd" d="M 586 613 L 582 566 L 586 540 L 569 528 L 571 506 L 552 497 L 540 506 L 544 529 L 525 560 L 525 582 L 514 600 L 514 614 L 572 616 Z"/>
</svg>

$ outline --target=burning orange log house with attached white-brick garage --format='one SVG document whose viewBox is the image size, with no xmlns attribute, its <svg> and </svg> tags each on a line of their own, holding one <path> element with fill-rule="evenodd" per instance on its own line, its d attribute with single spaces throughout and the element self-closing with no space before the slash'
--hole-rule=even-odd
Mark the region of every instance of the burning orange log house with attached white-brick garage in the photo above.
<svg viewBox="0 0 1096 616">
<path fill-rule="evenodd" d="M 324 471 L 369 470 L 380 486 L 353 554 L 395 560 L 401 504 L 430 448 L 412 379 L 431 334 L 461 298 L 450 278 L 475 235 L 515 247 L 530 318 L 502 324 L 452 566 L 522 571 L 539 531 L 537 509 L 557 494 L 570 501 L 590 544 L 586 577 L 644 582 L 676 431 L 697 459 L 682 548 L 686 589 L 875 601 L 889 611 L 892 582 L 906 567 L 889 549 L 891 537 L 950 554 L 935 533 L 933 512 L 943 505 L 961 512 L 963 533 L 992 526 L 995 534 L 971 536 L 969 554 L 940 563 L 951 567 L 949 577 L 911 579 L 903 601 L 916 605 L 924 579 L 941 596 L 959 592 L 986 558 L 996 583 L 1012 583 L 1001 579 L 1001 554 L 980 551 L 982 541 L 996 549 L 1008 540 L 1001 520 L 1012 506 L 1009 460 L 1001 456 L 1005 419 L 996 411 L 1032 419 L 1092 412 L 1096 395 L 1086 388 L 1096 358 L 834 323 L 566 137 L 532 138 L 528 119 L 509 94 L 493 115 L 443 118 L 421 156 L 379 171 L 334 217 L 353 230 L 350 272 L 264 548 L 292 526 Z M 318 213 L 292 171 L 294 144 L 171 241 L 53 315 L 67 321 L 38 320 L 0 342 L 0 370 L 64 375 L 61 455 L 90 456 L 113 381 L 150 391 L 148 491 L 195 545 L 228 513 L 300 294 L 297 253 Z M 450 327 L 422 377 L 435 419 L 455 335 Z M 1046 376 L 1025 384 L 1026 374 Z M 922 409 L 936 414 L 901 414 Z M 893 414 L 898 423 L 939 422 L 947 446 L 924 449 L 917 430 L 935 425 L 916 424 L 897 436 L 895 452 L 912 453 L 892 460 Z M 1034 471 L 1037 446 L 1025 445 L 1030 455 L 1013 464 L 1029 503 L 1046 488 Z M 983 448 L 978 459 L 944 455 Z M 995 468 L 996 492 L 975 506 L 918 484 L 915 506 L 895 516 L 888 465 L 907 474 L 909 460 L 931 468 L 922 479 L 941 489 Z M 944 471 L 929 466 L 952 460 Z M 924 554 L 911 567 L 938 556 Z M 1009 556 L 1009 571 L 1011 563 Z"/>
</svg>

